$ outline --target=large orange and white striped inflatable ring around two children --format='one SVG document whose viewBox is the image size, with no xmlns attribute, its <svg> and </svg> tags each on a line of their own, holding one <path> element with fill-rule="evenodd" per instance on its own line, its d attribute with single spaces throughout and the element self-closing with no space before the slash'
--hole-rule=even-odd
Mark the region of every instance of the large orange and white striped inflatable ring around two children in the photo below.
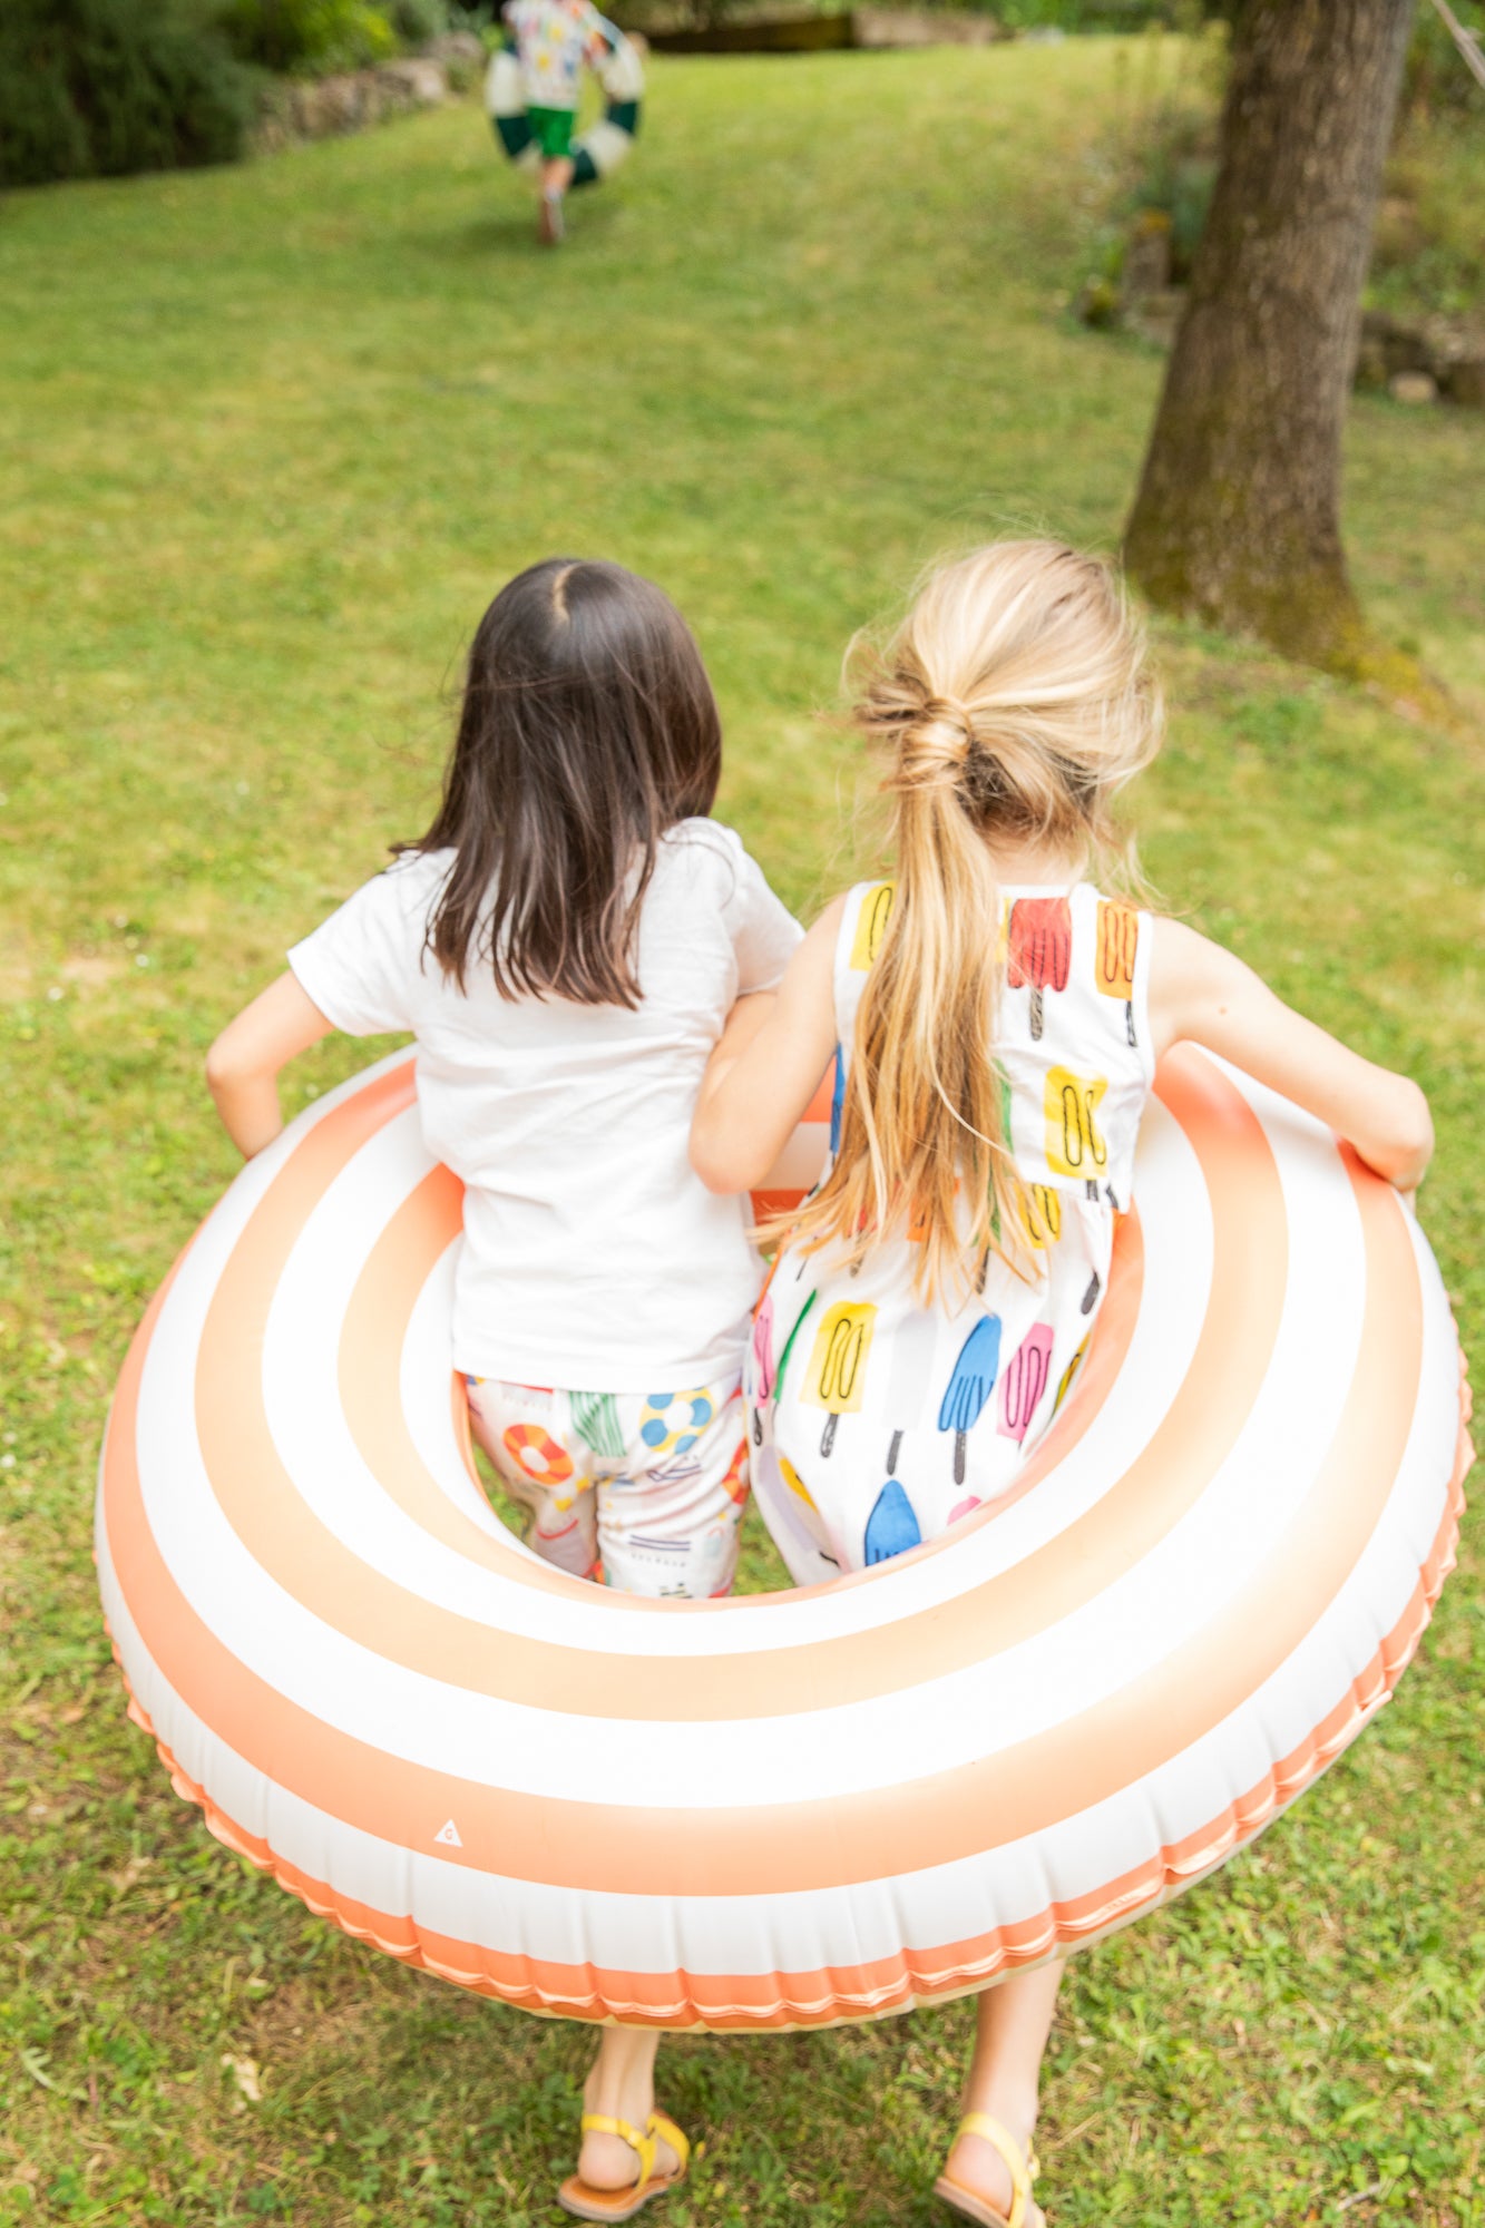
<svg viewBox="0 0 1485 2228">
<path fill-rule="evenodd" d="M 457 1234 L 410 1056 L 301 1114 L 134 1339 L 96 1542 L 132 1713 L 212 1831 L 508 2003 L 809 2027 L 1093 1941 L 1347 1747 L 1452 1569 L 1469 1442 L 1429 1248 L 1204 1054 L 1162 1065 L 1108 1301 L 1015 1493 L 832 1586 L 649 1602 L 517 1542 L 448 1368 Z"/>
</svg>

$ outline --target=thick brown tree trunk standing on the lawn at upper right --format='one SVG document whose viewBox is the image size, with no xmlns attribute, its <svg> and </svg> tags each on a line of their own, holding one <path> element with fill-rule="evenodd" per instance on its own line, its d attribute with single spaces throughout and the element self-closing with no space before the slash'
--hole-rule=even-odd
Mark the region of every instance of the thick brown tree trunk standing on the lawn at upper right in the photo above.
<svg viewBox="0 0 1485 2228">
<path fill-rule="evenodd" d="M 1414 0 L 1246 0 L 1191 305 L 1126 532 L 1151 602 L 1376 671 L 1340 437 Z"/>
</svg>

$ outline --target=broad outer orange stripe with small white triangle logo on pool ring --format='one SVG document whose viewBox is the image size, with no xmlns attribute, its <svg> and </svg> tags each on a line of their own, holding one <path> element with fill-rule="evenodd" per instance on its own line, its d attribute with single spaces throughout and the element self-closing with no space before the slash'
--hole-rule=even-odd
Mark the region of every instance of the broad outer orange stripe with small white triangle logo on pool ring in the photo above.
<svg viewBox="0 0 1485 2228">
<path fill-rule="evenodd" d="M 176 1691 L 210 1693 L 212 1729 L 259 1771 L 404 1847 L 433 1847 L 441 1823 L 455 1816 L 464 1847 L 439 1851 L 450 1863 L 627 1894 L 778 1894 L 914 1872 L 999 1847 L 1133 1785 L 1217 1724 L 1284 1660 L 1322 1606 L 1316 1593 L 1340 1584 L 1369 1537 L 1411 1419 L 1420 1294 L 1411 1245 L 1387 1188 L 1362 1185 L 1358 1203 L 1369 1261 L 1367 1315 L 1353 1397 L 1311 1493 L 1322 1511 L 1309 1524 L 1318 1533 L 1309 1564 L 1316 1586 L 1295 1582 L 1284 1555 L 1278 1577 L 1269 1573 L 1251 1597 L 1157 1671 L 1066 1727 L 957 1771 L 827 1802 L 629 1809 L 479 1787 L 337 1733 L 236 1664 L 169 1580 L 138 1506 L 136 1381 L 120 1384 L 120 1428 L 111 1435 L 107 1466 L 109 1540 L 118 1513 L 118 1535 L 136 1555 L 132 1580 L 120 1577 L 125 1597 Z M 1400 1323 L 1391 1321 L 1398 1308 Z M 1275 1589 L 1278 1609 L 1266 1589 Z M 622 1675 L 635 1669 L 627 1662 Z M 685 1667 L 687 1682 L 696 1669 Z M 734 1669 L 749 1678 L 760 1660 Z"/>
</svg>

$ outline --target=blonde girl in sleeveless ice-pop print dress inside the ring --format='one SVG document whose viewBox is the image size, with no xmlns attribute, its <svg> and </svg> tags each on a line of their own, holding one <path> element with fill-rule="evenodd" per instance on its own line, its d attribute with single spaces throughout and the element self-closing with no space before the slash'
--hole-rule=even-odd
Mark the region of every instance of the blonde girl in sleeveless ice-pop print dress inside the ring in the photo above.
<svg viewBox="0 0 1485 2228">
<path fill-rule="evenodd" d="M 896 880 L 836 898 L 778 998 L 738 1009 L 691 1127 L 702 1179 L 745 1192 L 838 1047 L 834 1156 L 787 1228 L 749 1384 L 760 1502 L 771 1482 L 800 1580 L 883 1562 L 1012 1484 L 1097 1319 L 1177 1038 L 1405 1190 L 1431 1154 L 1414 1083 L 1108 880 L 1128 864 L 1113 802 L 1155 755 L 1159 700 L 1101 564 L 1008 541 L 945 566 L 856 717 L 887 753 Z M 1041 2221 L 1030 2137 L 1059 1976 L 981 1996 L 936 2190 L 992 2228 Z"/>
</svg>

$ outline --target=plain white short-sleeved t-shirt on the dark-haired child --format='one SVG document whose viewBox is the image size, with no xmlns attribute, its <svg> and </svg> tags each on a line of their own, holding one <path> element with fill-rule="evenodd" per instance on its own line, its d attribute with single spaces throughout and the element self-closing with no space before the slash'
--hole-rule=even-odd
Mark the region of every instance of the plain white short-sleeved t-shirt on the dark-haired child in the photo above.
<svg viewBox="0 0 1485 2228">
<path fill-rule="evenodd" d="M 640 909 L 640 1007 L 506 1000 L 426 949 L 450 864 L 404 856 L 288 958 L 337 1029 L 417 1038 L 424 1141 L 466 1185 L 455 1368 L 593 1393 L 731 1375 L 763 1270 L 747 1201 L 707 1192 L 687 1141 L 734 998 L 778 983 L 798 922 L 731 829 L 685 820 Z"/>
</svg>

